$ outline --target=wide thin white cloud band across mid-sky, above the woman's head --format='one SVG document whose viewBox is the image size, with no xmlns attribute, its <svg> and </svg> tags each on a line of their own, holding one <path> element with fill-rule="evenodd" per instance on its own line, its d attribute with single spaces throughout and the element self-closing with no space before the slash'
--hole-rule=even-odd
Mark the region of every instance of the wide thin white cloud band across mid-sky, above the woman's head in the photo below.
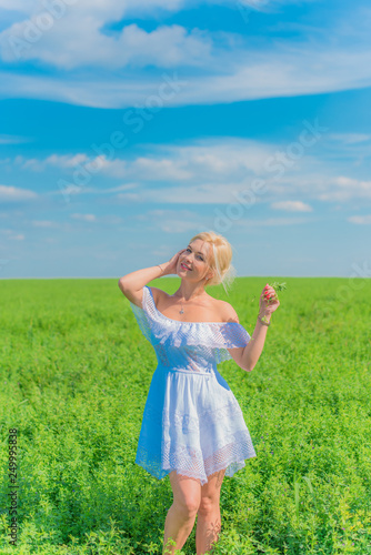
<svg viewBox="0 0 371 555">
<path fill-rule="evenodd" d="M 327 149 L 331 151 L 334 140 L 327 140 Z M 349 170 L 349 160 L 334 165 L 332 159 L 327 162 L 325 159 L 304 152 L 300 160 L 290 162 L 283 173 L 277 172 L 277 164 L 274 171 L 272 167 L 267 169 L 267 161 L 274 160 L 279 153 L 284 154 L 282 144 L 221 137 L 195 140 L 191 144 L 147 144 L 146 148 L 151 155 L 129 160 L 109 160 L 103 155 L 93 158 L 90 153 L 80 152 L 63 157 L 53 153 L 44 160 L 32 159 L 32 163 L 22 157 L 17 157 L 16 161 L 23 168 L 38 168 L 39 171 L 48 165 L 62 168 L 66 170 L 64 181 L 71 183 L 71 195 L 118 193 L 116 198 L 120 202 L 151 200 L 163 203 L 235 204 L 240 194 L 247 201 L 252 196 L 253 203 L 273 203 L 273 210 L 310 212 L 310 200 L 333 203 L 371 199 L 370 181 L 338 173 L 339 168 L 340 171 L 341 168 Z M 340 160 L 347 148 L 338 147 Z M 106 183 L 94 188 L 72 186 L 74 171 L 87 170 L 89 173 L 90 167 L 96 168 L 91 172 L 94 179 L 101 174 L 128 182 L 117 186 L 107 186 Z M 255 192 L 254 183 L 259 180 L 262 188 Z M 47 194 L 62 193 L 57 190 Z M 281 200 L 290 198 L 295 200 Z"/>
</svg>

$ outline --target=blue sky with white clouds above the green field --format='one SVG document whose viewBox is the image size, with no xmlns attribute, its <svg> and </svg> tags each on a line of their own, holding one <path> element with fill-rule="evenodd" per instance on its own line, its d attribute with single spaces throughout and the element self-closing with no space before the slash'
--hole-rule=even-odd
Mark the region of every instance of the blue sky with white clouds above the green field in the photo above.
<svg viewBox="0 0 371 555">
<path fill-rule="evenodd" d="M 368 2 L 0 16 L 0 278 L 119 278 L 207 230 L 238 275 L 371 276 Z"/>
</svg>

